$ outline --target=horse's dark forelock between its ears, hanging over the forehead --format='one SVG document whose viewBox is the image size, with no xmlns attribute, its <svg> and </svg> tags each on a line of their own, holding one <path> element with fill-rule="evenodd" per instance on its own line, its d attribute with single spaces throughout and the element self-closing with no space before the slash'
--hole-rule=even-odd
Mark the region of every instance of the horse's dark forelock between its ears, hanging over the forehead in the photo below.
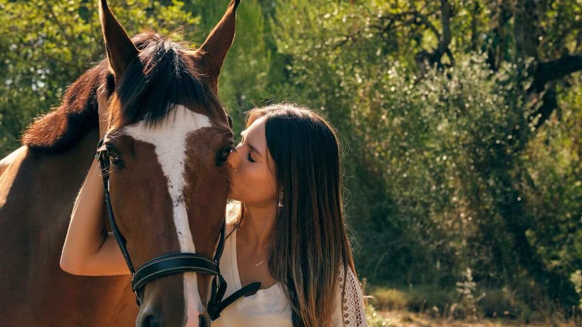
<svg viewBox="0 0 582 327">
<path fill-rule="evenodd" d="M 188 48 L 154 31 L 132 38 L 139 60 L 127 67 L 117 95 L 127 124 L 145 120 L 157 125 L 176 104 L 199 104 L 212 112 L 222 108 L 218 98 L 198 77 Z"/>
</svg>

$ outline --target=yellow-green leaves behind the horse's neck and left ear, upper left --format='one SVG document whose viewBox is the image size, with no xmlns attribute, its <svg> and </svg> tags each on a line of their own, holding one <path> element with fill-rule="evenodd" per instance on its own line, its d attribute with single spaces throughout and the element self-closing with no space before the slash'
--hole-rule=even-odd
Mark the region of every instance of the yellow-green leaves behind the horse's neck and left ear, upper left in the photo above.
<svg viewBox="0 0 582 327">
<path fill-rule="evenodd" d="M 111 1 L 129 35 L 146 26 L 192 33 L 200 17 L 183 2 Z M 0 0 L 0 149 L 19 144 L 20 131 L 58 103 L 68 85 L 104 56 L 97 1 Z"/>
</svg>

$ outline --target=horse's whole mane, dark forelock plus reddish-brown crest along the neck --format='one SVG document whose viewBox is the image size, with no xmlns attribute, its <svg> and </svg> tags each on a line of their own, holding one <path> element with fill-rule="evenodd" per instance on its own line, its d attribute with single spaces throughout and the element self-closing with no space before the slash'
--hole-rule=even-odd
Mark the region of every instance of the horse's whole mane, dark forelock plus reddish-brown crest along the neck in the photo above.
<svg viewBox="0 0 582 327">
<path fill-rule="evenodd" d="M 197 103 L 208 111 L 221 108 L 214 93 L 198 78 L 187 45 L 172 37 L 148 30 L 132 38 L 140 55 L 127 67 L 117 90 L 123 104 L 118 119 L 127 124 L 144 119 L 148 125 L 156 125 L 172 112 L 169 104 Z M 22 144 L 31 150 L 59 153 L 98 128 L 97 88 L 106 80 L 112 91 L 115 82 L 107 58 L 74 81 L 61 105 L 27 127 Z"/>
</svg>

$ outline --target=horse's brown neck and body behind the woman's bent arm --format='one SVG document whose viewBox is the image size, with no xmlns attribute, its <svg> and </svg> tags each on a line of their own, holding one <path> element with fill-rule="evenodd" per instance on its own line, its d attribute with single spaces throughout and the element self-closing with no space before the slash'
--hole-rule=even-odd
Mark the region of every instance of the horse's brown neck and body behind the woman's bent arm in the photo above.
<svg viewBox="0 0 582 327">
<path fill-rule="evenodd" d="M 0 177 L 0 294 L 8 294 L 0 325 L 134 325 L 139 309 L 127 276 L 78 278 L 59 267 L 97 141 L 94 129 L 61 154 L 24 147 Z"/>
</svg>

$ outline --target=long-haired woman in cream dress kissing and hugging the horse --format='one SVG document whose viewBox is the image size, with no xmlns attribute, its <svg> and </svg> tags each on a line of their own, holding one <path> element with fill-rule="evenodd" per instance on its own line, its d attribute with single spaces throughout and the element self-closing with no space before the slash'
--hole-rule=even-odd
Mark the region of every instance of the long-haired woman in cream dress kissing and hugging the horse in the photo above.
<svg viewBox="0 0 582 327">
<path fill-rule="evenodd" d="M 108 97 L 101 86 L 102 117 Z M 106 122 L 100 121 L 102 136 Z M 227 307 L 213 325 L 366 326 L 343 218 L 333 128 L 307 108 L 278 104 L 251 109 L 241 134 L 242 143 L 227 161 L 228 198 L 234 201 L 227 207 L 220 269 L 228 283 L 225 297 L 251 282 L 261 282 L 261 289 Z M 129 273 L 123 260 L 111 260 L 120 251 L 115 242 L 104 241 L 111 236 L 98 230 L 99 218 L 92 214 L 104 197 L 98 194 L 97 170 L 93 165 L 87 176 L 97 182 L 81 189 L 94 194 L 80 194 L 74 205 L 61 266 L 77 275 Z M 79 264 L 88 257 L 90 264 Z"/>
</svg>

